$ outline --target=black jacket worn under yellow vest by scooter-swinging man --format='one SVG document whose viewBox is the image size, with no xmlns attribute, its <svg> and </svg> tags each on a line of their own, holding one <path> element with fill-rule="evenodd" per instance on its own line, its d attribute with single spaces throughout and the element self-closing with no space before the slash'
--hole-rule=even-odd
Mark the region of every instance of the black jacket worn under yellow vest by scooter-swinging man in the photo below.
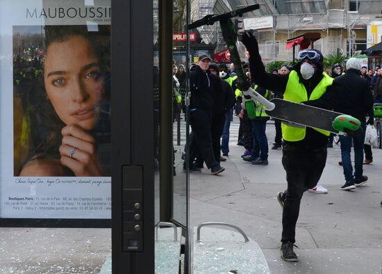
<svg viewBox="0 0 382 274">
<path fill-rule="evenodd" d="M 265 72 L 263 62 L 261 61 L 261 56 L 256 51 L 249 52 L 249 66 L 251 71 L 251 78 L 254 79 L 254 82 L 261 86 L 262 88 L 267 88 L 268 90 L 274 90 L 276 92 L 285 92 L 285 88 L 288 83 L 289 75 L 278 75 L 270 74 Z M 316 73 L 309 80 L 304 80 L 300 74 L 299 67 L 301 63 L 297 63 L 294 66 L 297 74 L 299 74 L 299 81 L 304 84 L 308 97 L 313 92 L 317 84 L 321 81 L 323 75 L 322 73 Z M 326 88 L 326 92 L 322 97 L 314 101 L 304 102 L 304 104 L 317 106 L 325 109 L 333 109 L 337 106 L 338 102 L 342 99 L 340 84 L 337 81 L 333 81 L 333 84 Z M 287 141 L 285 141 L 287 142 Z M 303 140 L 297 142 L 288 142 L 294 143 L 299 147 L 304 147 L 308 149 L 315 149 L 320 147 L 326 147 L 328 143 L 328 137 L 324 134 L 319 133 L 315 129 L 310 127 L 306 128 L 306 136 Z"/>
</svg>

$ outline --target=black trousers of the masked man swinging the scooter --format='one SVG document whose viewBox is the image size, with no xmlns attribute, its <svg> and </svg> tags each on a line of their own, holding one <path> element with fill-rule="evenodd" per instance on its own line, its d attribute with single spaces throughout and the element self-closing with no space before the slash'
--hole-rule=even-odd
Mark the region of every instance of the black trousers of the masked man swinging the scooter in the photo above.
<svg viewBox="0 0 382 274">
<path fill-rule="evenodd" d="M 288 182 L 283 208 L 283 243 L 295 241 L 302 195 L 317 185 L 325 167 L 326 156 L 326 147 L 313 150 L 291 143 L 283 145 L 282 163 Z"/>
</svg>

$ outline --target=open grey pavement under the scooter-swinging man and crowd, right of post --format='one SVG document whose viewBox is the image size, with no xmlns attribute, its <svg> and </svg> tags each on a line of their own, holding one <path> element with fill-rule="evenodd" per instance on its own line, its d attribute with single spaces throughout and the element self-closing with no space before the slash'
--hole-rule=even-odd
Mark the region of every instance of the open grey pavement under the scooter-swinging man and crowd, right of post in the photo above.
<svg viewBox="0 0 382 274">
<path fill-rule="evenodd" d="M 190 175 L 191 227 L 212 221 L 238 225 L 260 245 L 271 273 L 382 273 L 382 150 L 373 149 L 373 163 L 363 166 L 368 184 L 341 191 L 340 146 L 328 149 L 320 183 L 329 193 L 306 192 L 301 200 L 297 263 L 280 257 L 282 210 L 276 193 L 287 186 L 281 149 L 269 150 L 268 166 L 242 161 L 242 152 L 232 140 L 221 175 L 206 168 Z"/>
</svg>

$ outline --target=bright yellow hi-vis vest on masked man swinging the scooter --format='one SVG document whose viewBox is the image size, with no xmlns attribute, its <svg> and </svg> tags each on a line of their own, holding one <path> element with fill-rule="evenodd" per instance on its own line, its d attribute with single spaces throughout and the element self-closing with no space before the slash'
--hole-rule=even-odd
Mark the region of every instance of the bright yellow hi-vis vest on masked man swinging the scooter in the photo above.
<svg viewBox="0 0 382 274">
<path fill-rule="evenodd" d="M 313 90 L 312 94 L 309 97 L 309 100 L 315 100 L 321 97 L 326 92 L 326 88 L 328 86 L 331 86 L 331 84 L 333 83 L 334 79 L 331 78 L 331 76 L 329 76 L 325 72 L 323 73 L 323 75 L 324 77 Z M 290 72 L 289 74 L 288 83 L 284 92 L 284 99 L 296 103 L 308 101 L 308 93 L 306 92 L 306 88 L 302 83 L 299 82 L 299 75 L 294 70 L 292 70 L 292 72 Z M 281 129 L 284 140 L 295 142 L 298 140 L 303 140 L 305 138 L 306 127 L 292 127 L 282 123 Z M 315 130 L 319 131 L 320 133 L 326 136 L 330 135 L 329 131 L 324 131 L 321 129 Z"/>
</svg>

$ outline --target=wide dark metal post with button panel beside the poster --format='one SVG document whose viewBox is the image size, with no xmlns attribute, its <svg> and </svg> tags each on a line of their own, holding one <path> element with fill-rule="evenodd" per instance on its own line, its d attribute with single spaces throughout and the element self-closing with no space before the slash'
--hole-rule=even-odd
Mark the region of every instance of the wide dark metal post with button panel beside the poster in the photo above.
<svg viewBox="0 0 382 274">
<path fill-rule="evenodd" d="M 153 67 L 153 2 L 113 0 L 111 10 L 111 264 L 154 273 L 153 72 L 142 74 Z"/>
</svg>

